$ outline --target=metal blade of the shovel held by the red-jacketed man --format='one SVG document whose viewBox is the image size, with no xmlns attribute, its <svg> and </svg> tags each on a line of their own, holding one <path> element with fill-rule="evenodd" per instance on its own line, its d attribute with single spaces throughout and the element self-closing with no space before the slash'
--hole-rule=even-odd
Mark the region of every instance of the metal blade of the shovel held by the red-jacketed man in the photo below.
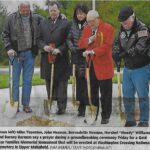
<svg viewBox="0 0 150 150">
<path fill-rule="evenodd" d="M 86 106 L 86 111 L 85 111 L 85 120 L 84 122 L 92 125 L 96 121 L 96 116 L 97 116 L 97 106 L 94 105 L 89 105 Z"/>
</svg>

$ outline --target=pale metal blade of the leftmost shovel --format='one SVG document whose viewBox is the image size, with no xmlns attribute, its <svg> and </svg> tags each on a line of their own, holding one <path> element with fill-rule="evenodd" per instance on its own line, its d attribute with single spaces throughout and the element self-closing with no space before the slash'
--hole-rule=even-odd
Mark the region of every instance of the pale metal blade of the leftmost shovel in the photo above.
<svg viewBox="0 0 150 150">
<path fill-rule="evenodd" d="M 3 114 L 8 118 L 15 117 L 18 109 L 18 102 L 11 103 L 10 101 L 5 103 Z"/>
</svg>

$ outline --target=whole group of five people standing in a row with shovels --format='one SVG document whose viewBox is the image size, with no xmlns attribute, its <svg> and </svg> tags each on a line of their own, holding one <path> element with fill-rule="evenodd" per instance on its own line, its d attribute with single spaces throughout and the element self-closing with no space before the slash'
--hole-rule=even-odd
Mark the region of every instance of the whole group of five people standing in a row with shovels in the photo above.
<svg viewBox="0 0 150 150">
<path fill-rule="evenodd" d="M 13 100 L 19 101 L 19 80 L 22 70 L 22 105 L 29 107 L 35 56 L 41 49 L 41 78 L 45 79 L 50 98 L 51 66 L 54 64 L 53 99 L 57 100 L 57 114 L 64 114 L 67 106 L 67 85 L 71 66 L 75 65 L 76 98 L 80 101 L 78 116 L 85 116 L 88 105 L 86 66 L 90 68 L 92 104 L 101 102 L 101 124 L 109 123 L 112 112 L 112 77 L 115 63 L 124 59 L 123 100 L 127 114 L 125 126 L 135 126 L 134 95 L 140 102 L 140 123 L 148 126 L 150 80 L 150 33 L 137 20 L 131 7 L 120 10 L 119 34 L 114 40 L 114 28 L 104 22 L 95 10 L 78 4 L 70 23 L 60 12 L 56 1 L 49 2 L 49 18 L 33 14 L 28 2 L 21 2 L 17 12 L 6 19 L 2 33 L 4 46 L 13 62 Z M 113 51 L 112 51 L 113 49 Z M 99 91 L 101 96 L 99 96 Z M 18 106 L 19 111 L 19 106 Z"/>
</svg>

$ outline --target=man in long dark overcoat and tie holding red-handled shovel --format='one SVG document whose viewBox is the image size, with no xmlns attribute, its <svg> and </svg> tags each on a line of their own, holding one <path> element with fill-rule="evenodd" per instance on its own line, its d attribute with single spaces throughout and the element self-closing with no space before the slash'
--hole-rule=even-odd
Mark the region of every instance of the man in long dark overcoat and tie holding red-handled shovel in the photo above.
<svg viewBox="0 0 150 150">
<path fill-rule="evenodd" d="M 51 62 L 48 56 L 56 57 L 54 62 L 54 100 L 57 100 L 58 112 L 63 114 L 67 105 L 67 81 L 69 77 L 69 55 L 66 38 L 70 24 L 60 15 L 57 2 L 49 3 L 49 19 L 40 24 L 39 47 L 43 49 L 41 58 L 41 78 L 46 81 L 48 98 L 50 97 Z"/>
</svg>

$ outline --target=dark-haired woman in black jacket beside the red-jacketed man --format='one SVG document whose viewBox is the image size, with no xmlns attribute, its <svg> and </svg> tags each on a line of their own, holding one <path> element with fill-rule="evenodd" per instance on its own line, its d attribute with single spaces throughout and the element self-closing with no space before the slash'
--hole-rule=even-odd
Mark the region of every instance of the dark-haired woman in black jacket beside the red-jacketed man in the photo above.
<svg viewBox="0 0 150 150">
<path fill-rule="evenodd" d="M 85 58 L 82 56 L 84 49 L 78 47 L 78 40 L 86 22 L 88 8 L 86 5 L 78 4 L 74 10 L 72 26 L 67 38 L 67 44 L 71 50 L 71 62 L 76 66 L 76 97 L 80 101 L 78 116 L 85 116 L 85 104 L 87 98 L 87 84 L 85 79 Z"/>
</svg>

